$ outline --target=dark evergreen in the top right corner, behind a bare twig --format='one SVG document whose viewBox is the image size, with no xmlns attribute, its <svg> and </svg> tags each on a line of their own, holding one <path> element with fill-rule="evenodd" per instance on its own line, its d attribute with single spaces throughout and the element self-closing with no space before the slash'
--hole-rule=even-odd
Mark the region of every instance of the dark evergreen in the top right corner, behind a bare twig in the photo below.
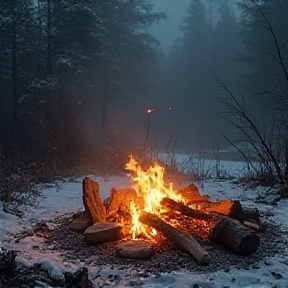
<svg viewBox="0 0 288 288">
<path fill-rule="evenodd" d="M 275 39 L 277 39 L 283 60 L 287 63 L 288 2 L 242 0 L 240 8 L 242 9 L 241 35 L 245 47 L 241 59 L 249 67 L 249 73 L 245 77 L 246 84 L 254 93 L 264 91 L 270 91 L 273 94 L 280 93 L 277 87 L 282 87 L 281 82 L 285 75 L 279 66 Z M 275 39 L 271 32 L 275 33 Z"/>
</svg>

